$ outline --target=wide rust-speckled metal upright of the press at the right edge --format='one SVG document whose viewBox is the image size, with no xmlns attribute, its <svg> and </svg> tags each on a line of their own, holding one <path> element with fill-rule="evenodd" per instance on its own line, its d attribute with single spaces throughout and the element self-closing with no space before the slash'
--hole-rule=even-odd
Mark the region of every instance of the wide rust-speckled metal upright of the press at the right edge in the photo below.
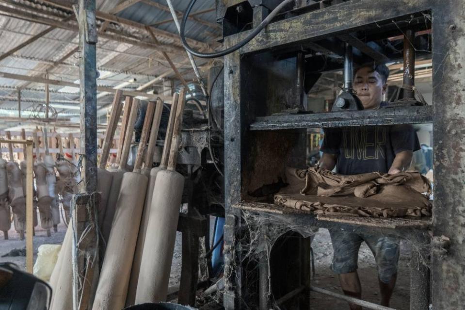
<svg viewBox="0 0 465 310">
<path fill-rule="evenodd" d="M 433 8 L 433 237 L 450 238 L 447 255 L 433 251 L 433 309 L 465 305 L 465 2 Z"/>
</svg>

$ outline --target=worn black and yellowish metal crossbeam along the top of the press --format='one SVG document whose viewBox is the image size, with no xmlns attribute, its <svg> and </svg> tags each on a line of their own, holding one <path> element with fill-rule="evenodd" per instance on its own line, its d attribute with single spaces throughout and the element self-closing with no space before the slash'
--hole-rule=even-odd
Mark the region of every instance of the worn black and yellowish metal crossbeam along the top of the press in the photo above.
<svg viewBox="0 0 465 310">
<path fill-rule="evenodd" d="M 317 40 L 324 36 L 352 33 L 370 27 L 370 24 L 376 22 L 428 10 L 434 2 L 432 0 L 383 2 L 358 0 L 329 6 L 268 25 L 240 51 L 244 54 L 284 45 L 298 46 L 304 40 Z M 228 40 L 227 46 L 241 41 L 248 33 L 249 31 L 244 31 L 235 35 L 233 40 Z"/>
</svg>

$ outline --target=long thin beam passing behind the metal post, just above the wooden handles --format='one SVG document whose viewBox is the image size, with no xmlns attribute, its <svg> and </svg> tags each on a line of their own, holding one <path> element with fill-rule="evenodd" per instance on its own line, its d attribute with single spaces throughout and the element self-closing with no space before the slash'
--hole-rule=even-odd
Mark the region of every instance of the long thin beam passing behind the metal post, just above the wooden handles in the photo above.
<svg viewBox="0 0 465 310">
<path fill-rule="evenodd" d="M 170 70 L 170 73 L 171 73 L 171 70 Z M 30 77 L 27 75 L 13 74 L 13 73 L 7 73 L 7 72 L 0 72 L 0 78 L 12 79 L 12 80 L 18 80 L 18 81 L 28 81 L 28 82 L 42 83 L 42 84 L 50 84 L 50 85 L 71 86 L 71 87 L 79 88 L 79 83 L 50 80 L 50 79 L 45 79 L 41 77 Z M 114 89 L 112 87 L 106 87 L 106 86 L 97 86 L 97 91 L 115 93 L 117 89 Z M 130 91 L 130 90 L 122 90 L 122 91 L 123 91 L 123 94 L 126 96 L 134 96 L 134 97 L 142 96 L 148 99 L 161 98 L 162 100 L 165 100 L 165 101 L 171 100 L 171 96 L 152 95 L 152 94 L 146 94 L 140 91 Z"/>
</svg>

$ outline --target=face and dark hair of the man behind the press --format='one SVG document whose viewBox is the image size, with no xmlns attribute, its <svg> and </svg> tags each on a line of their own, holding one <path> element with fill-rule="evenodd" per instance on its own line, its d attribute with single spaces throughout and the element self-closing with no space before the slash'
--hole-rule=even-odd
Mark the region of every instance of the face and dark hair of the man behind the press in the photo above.
<svg viewBox="0 0 465 310">
<path fill-rule="evenodd" d="M 362 67 L 357 70 L 353 80 L 353 88 L 364 109 L 378 108 L 387 88 L 383 77 L 370 67 Z"/>
</svg>

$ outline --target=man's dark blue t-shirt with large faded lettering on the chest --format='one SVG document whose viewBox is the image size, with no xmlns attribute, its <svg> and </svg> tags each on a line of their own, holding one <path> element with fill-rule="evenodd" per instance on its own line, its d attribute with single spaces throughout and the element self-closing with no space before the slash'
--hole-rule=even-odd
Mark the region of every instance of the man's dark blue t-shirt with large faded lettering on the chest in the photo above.
<svg viewBox="0 0 465 310">
<path fill-rule="evenodd" d="M 321 151 L 336 154 L 336 172 L 343 175 L 378 171 L 387 173 L 401 151 L 420 149 L 411 125 L 328 128 Z"/>
</svg>

